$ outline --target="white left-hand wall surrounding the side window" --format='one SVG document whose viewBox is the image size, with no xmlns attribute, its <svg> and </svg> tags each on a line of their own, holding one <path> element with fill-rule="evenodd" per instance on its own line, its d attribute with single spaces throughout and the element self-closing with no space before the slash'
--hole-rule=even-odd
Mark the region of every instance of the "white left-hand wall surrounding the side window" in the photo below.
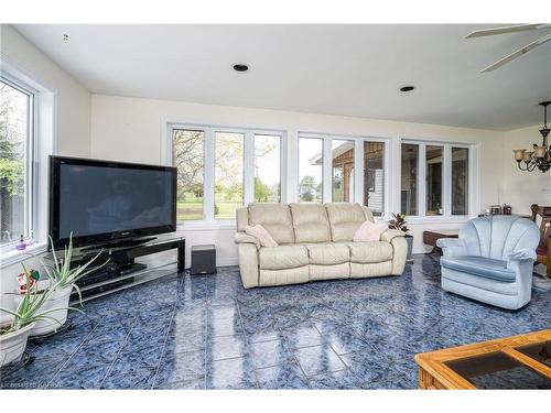
<svg viewBox="0 0 551 413">
<path fill-rule="evenodd" d="M 53 148 L 55 152 L 63 155 L 89 156 L 89 91 L 7 24 L 0 25 L 0 45 L 2 62 L 14 66 L 25 76 L 53 91 L 55 100 Z M 37 202 L 46 204 L 47 199 Z M 32 260 L 30 265 L 37 265 L 36 260 Z M 21 272 L 21 265 L 4 267 L 0 271 L 0 292 L 12 291 L 17 285 L 14 275 Z M 6 297 L 2 295 L 0 305 L 4 304 Z"/>
</svg>

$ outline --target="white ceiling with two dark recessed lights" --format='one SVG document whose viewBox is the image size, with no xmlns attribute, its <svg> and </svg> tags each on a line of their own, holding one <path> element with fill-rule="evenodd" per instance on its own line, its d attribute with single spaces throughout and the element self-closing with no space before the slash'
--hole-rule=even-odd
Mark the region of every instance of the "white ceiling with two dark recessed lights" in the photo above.
<svg viewBox="0 0 551 413">
<path fill-rule="evenodd" d="M 493 25 L 50 25 L 15 29 L 90 91 L 510 130 L 542 122 L 550 31 L 465 40 Z M 63 34 L 69 41 L 63 41 Z M 246 63 L 247 73 L 231 66 Z M 414 85 L 410 94 L 398 89 Z"/>
</svg>

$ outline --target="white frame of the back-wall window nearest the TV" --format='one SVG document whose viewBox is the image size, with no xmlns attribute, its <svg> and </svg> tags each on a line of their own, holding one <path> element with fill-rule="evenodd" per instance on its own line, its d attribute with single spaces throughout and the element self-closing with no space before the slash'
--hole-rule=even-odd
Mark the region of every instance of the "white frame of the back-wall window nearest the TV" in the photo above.
<svg viewBox="0 0 551 413">
<path fill-rule="evenodd" d="M 241 133 L 244 134 L 244 205 L 249 205 L 255 200 L 255 135 L 269 134 L 280 137 L 280 198 L 285 202 L 287 174 L 284 160 L 287 153 L 287 133 L 282 130 L 241 128 L 220 124 L 202 124 L 162 121 L 161 133 L 161 163 L 172 166 L 173 142 L 172 134 L 175 129 L 196 130 L 205 133 L 204 141 L 204 170 L 203 170 L 203 219 L 177 221 L 177 228 L 184 230 L 204 229 L 235 229 L 235 219 L 216 219 L 214 216 L 215 205 L 215 161 L 216 161 L 216 132 Z"/>
</svg>

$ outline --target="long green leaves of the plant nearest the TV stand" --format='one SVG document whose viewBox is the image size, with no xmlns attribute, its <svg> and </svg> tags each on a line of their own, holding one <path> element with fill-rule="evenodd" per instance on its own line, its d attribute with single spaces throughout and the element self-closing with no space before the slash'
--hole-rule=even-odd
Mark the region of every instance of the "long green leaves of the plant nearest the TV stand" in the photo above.
<svg viewBox="0 0 551 413">
<path fill-rule="evenodd" d="M 88 275 L 90 272 L 104 267 L 109 262 L 109 259 L 106 260 L 101 265 L 96 267 L 94 269 L 88 269 L 88 267 L 96 261 L 104 250 L 100 250 L 91 260 L 89 260 L 84 265 L 78 265 L 76 268 L 71 268 L 71 258 L 73 257 L 73 232 L 69 236 L 68 246 L 64 247 L 63 259 L 60 261 L 57 259 L 57 253 L 54 248 L 54 241 L 52 237 L 50 238 L 50 244 L 52 246 L 52 256 L 54 259 L 54 264 L 47 264 L 45 262 L 42 263 L 44 271 L 46 271 L 47 276 L 52 280 L 53 290 L 63 290 L 67 286 L 72 286 L 76 290 L 78 294 L 78 300 L 83 302 L 83 295 L 80 293 L 80 289 L 76 285 L 76 282 L 80 280 L 83 276 Z M 87 270 L 88 269 L 88 270 Z"/>
</svg>

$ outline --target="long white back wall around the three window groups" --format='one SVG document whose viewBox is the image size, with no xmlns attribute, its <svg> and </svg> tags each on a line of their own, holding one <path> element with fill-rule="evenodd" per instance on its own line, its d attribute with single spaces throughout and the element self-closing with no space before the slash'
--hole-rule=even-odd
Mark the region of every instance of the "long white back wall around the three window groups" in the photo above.
<svg viewBox="0 0 551 413">
<path fill-rule="evenodd" d="M 284 130 L 288 135 L 288 202 L 296 198 L 294 184 L 298 182 L 298 134 L 301 131 L 391 138 L 392 153 L 398 153 L 400 139 L 406 138 L 478 142 L 480 159 L 495 160 L 493 163 L 480 163 L 482 209 L 498 202 L 503 133 L 487 130 L 93 95 L 91 156 L 159 164 L 163 159 L 161 151 L 166 121 Z M 497 154 L 496 149 L 499 152 Z M 392 205 L 399 205 L 399 191 L 393 189 L 399 187 L 397 171 L 400 163 L 397 159 L 391 162 L 392 176 L 389 182 L 395 197 Z M 451 220 L 422 226 L 412 224 L 410 227 L 415 237 L 415 251 L 424 251 L 421 241 L 424 229 L 452 229 L 460 226 L 461 222 Z M 188 246 L 216 243 L 218 264 L 237 263 L 233 243 L 234 229 L 192 231 L 184 227 L 183 233 Z"/>
</svg>

